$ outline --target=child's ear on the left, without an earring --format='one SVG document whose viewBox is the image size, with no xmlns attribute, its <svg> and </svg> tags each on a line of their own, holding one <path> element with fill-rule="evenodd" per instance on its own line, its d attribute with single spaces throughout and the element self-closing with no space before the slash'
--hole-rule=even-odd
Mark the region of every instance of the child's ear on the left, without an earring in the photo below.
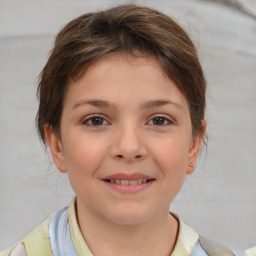
<svg viewBox="0 0 256 256">
<path fill-rule="evenodd" d="M 56 132 L 48 124 L 44 126 L 44 134 L 56 167 L 60 172 L 67 172 L 63 147 L 59 136 L 57 136 Z"/>
</svg>

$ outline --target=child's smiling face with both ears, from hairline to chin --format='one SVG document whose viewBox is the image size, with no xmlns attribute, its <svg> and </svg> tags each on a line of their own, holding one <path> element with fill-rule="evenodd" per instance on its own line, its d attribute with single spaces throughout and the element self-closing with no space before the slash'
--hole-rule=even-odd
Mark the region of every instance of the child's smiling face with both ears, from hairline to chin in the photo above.
<svg viewBox="0 0 256 256">
<path fill-rule="evenodd" d="M 119 224 L 168 213 L 202 139 L 192 136 L 186 99 L 157 60 L 121 55 L 100 59 L 69 86 L 61 140 L 49 129 L 46 137 L 69 174 L 78 215 Z"/>
</svg>

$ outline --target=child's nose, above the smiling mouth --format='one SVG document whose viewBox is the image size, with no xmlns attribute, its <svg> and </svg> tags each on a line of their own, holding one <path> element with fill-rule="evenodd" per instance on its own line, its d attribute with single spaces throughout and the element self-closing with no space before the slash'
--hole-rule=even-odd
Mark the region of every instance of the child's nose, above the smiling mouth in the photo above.
<svg viewBox="0 0 256 256">
<path fill-rule="evenodd" d="M 145 159 L 148 152 L 140 129 L 127 125 L 117 129 L 111 144 L 110 153 L 113 158 L 127 162 Z"/>
</svg>

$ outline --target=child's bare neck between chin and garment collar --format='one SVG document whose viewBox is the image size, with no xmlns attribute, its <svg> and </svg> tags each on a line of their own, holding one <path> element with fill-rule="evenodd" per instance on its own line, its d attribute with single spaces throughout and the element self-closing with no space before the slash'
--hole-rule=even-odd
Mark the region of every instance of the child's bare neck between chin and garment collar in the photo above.
<svg viewBox="0 0 256 256">
<path fill-rule="evenodd" d="M 169 256 L 175 247 L 178 221 L 168 213 L 168 209 L 154 219 L 136 225 L 106 221 L 79 206 L 77 214 L 83 238 L 95 256 Z"/>
</svg>

